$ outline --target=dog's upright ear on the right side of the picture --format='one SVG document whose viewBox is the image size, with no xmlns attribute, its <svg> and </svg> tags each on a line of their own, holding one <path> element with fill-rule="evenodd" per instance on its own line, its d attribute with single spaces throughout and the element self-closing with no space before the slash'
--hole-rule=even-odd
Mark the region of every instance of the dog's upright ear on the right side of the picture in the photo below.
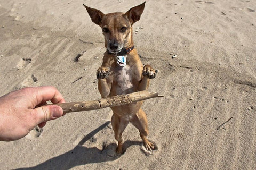
<svg viewBox="0 0 256 170">
<path fill-rule="evenodd" d="M 140 20 L 140 15 L 144 10 L 145 3 L 146 1 L 143 4 L 134 6 L 133 8 L 131 8 L 129 11 L 125 13 L 125 15 L 129 18 L 132 24 Z"/>
</svg>

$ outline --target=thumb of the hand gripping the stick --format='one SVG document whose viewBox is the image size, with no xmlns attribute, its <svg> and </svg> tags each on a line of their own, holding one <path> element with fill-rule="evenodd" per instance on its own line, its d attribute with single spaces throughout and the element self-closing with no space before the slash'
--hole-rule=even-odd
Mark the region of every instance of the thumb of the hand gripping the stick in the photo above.
<svg viewBox="0 0 256 170">
<path fill-rule="evenodd" d="M 54 120 L 63 115 L 63 109 L 60 106 L 49 105 L 37 107 L 33 110 L 36 124 Z"/>
</svg>

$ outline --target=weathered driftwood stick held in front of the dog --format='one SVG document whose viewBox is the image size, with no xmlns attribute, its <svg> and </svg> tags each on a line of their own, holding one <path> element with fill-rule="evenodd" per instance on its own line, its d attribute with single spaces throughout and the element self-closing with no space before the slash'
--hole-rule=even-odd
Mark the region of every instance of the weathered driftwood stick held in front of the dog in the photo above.
<svg viewBox="0 0 256 170">
<path fill-rule="evenodd" d="M 133 102 L 146 100 L 155 97 L 163 97 L 158 95 L 157 92 L 148 92 L 147 90 L 133 92 L 125 95 L 112 96 L 107 98 L 102 98 L 92 101 L 78 101 L 78 102 L 68 102 L 59 104 L 49 104 L 58 105 L 62 107 L 63 112 L 81 112 L 81 111 L 91 111 L 106 107 L 115 107 L 127 105 Z"/>
</svg>

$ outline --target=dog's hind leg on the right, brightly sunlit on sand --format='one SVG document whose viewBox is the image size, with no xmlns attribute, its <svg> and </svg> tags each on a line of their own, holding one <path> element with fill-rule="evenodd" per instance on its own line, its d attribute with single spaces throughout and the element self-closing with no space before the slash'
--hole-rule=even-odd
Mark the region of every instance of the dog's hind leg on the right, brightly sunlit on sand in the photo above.
<svg viewBox="0 0 256 170">
<path fill-rule="evenodd" d="M 131 123 L 139 129 L 140 137 L 143 140 L 144 146 L 147 150 L 154 150 L 154 143 L 149 142 L 146 138 L 148 135 L 148 120 L 146 113 L 140 108 L 136 115 L 130 120 Z"/>
</svg>

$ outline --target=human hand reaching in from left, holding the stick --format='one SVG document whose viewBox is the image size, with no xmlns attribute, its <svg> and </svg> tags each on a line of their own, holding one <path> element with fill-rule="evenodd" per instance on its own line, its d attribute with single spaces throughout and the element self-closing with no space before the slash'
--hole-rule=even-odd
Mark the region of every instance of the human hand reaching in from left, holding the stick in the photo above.
<svg viewBox="0 0 256 170">
<path fill-rule="evenodd" d="M 63 110 L 60 106 L 43 106 L 49 100 L 65 102 L 52 86 L 27 87 L 0 97 L 0 140 L 18 140 L 36 125 L 42 128 L 47 121 L 61 117 Z"/>
</svg>

